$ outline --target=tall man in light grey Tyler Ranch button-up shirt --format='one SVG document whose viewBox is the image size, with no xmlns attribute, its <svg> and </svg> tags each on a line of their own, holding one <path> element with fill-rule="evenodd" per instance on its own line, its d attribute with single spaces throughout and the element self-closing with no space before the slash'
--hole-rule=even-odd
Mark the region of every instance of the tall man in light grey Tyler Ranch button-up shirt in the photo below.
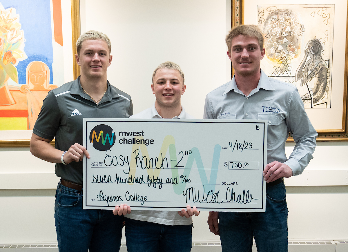
<svg viewBox="0 0 348 252">
<path fill-rule="evenodd" d="M 204 118 L 266 119 L 266 212 L 210 212 L 211 232 L 220 234 L 222 250 L 251 251 L 253 236 L 259 252 L 287 251 L 287 206 L 283 178 L 302 173 L 313 158 L 317 133 L 311 125 L 298 90 L 269 78 L 260 70 L 263 35 L 256 25 L 241 25 L 226 36 L 227 55 L 235 70 L 230 82 L 208 93 Z M 269 108 L 264 110 L 264 108 Z M 226 112 L 230 112 L 228 116 Z M 285 142 L 289 132 L 296 143 L 289 159 Z M 247 179 L 247 178 L 245 178 Z"/>
</svg>

